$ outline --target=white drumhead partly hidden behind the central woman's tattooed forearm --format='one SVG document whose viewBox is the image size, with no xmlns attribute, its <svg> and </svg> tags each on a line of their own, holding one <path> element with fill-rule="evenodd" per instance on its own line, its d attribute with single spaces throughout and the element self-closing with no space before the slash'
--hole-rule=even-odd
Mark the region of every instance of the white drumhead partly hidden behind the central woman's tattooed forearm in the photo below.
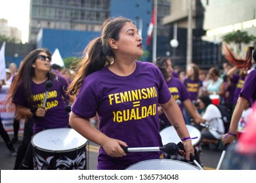
<svg viewBox="0 0 256 183">
<path fill-rule="evenodd" d="M 193 146 L 197 146 L 201 141 L 200 131 L 192 125 L 186 125 L 186 128 L 188 129 L 190 137 L 198 137 L 196 139 L 191 139 Z M 179 137 L 173 126 L 169 126 L 161 130 L 160 135 L 163 144 L 167 144 L 169 142 L 174 142 L 175 144 L 178 144 L 179 142 L 181 142 L 181 138 Z"/>
</svg>

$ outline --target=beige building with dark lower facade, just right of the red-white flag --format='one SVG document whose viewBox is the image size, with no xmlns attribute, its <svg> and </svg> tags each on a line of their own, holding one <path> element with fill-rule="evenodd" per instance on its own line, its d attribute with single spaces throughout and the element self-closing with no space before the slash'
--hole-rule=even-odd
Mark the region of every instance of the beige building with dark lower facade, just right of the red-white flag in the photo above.
<svg viewBox="0 0 256 183">
<path fill-rule="evenodd" d="M 191 0 L 190 5 L 190 1 L 171 0 L 170 8 L 171 13 L 163 18 L 163 24 L 171 25 L 169 41 L 176 39 L 179 42 L 179 46 L 172 47 L 170 52 L 174 65 L 180 65 L 185 69 L 189 63 L 197 63 L 201 67 L 218 64 L 217 54 L 213 51 L 218 49 L 218 45 L 202 42 L 202 35 L 205 34 L 205 31 L 203 31 L 204 8 L 201 1 Z M 188 25 L 190 9 L 191 24 Z M 188 34 L 188 27 L 190 27 L 192 35 Z M 192 42 L 192 46 L 188 47 L 188 41 Z M 187 56 L 188 48 L 191 48 L 192 59 L 190 61 Z M 208 57 L 205 58 L 205 55 Z"/>
</svg>

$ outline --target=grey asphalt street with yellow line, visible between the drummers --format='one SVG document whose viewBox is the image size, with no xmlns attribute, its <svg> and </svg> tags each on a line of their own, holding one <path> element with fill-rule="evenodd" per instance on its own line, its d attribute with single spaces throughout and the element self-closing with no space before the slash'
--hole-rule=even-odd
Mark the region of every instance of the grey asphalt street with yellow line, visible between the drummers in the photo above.
<svg viewBox="0 0 256 183">
<path fill-rule="evenodd" d="M 12 135 L 10 135 L 12 139 Z M 19 141 L 14 144 L 15 148 L 18 149 L 22 140 L 22 136 L 19 136 Z M 16 157 L 11 157 L 10 152 L 5 146 L 5 142 L 0 138 L 0 170 L 12 170 Z M 203 169 L 214 170 L 217 168 L 219 159 L 221 158 L 222 150 L 207 149 L 202 150 Z M 93 142 L 89 142 L 89 170 L 96 170 L 98 156 L 98 145 Z"/>
</svg>

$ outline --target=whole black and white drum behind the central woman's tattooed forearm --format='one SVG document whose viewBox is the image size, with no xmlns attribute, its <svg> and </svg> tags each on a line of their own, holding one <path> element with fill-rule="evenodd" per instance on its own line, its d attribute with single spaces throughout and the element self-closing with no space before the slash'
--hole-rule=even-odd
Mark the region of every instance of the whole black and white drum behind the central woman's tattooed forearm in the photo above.
<svg viewBox="0 0 256 183">
<path fill-rule="evenodd" d="M 201 133 L 196 127 L 192 125 L 186 125 L 186 127 L 188 129 L 188 133 L 190 134 L 190 137 L 198 137 L 196 139 L 191 139 L 191 141 L 194 146 L 196 161 L 198 161 L 198 163 L 200 163 L 200 165 L 203 167 Z M 163 144 L 167 144 L 169 142 L 174 142 L 175 144 L 178 144 L 179 142 L 181 142 L 181 138 L 179 137 L 179 135 L 177 134 L 173 126 L 169 126 L 161 130 L 160 135 L 161 135 L 161 141 L 163 142 Z M 167 158 L 186 161 L 186 159 L 180 156 L 179 154 L 177 156 L 171 156 Z"/>
</svg>

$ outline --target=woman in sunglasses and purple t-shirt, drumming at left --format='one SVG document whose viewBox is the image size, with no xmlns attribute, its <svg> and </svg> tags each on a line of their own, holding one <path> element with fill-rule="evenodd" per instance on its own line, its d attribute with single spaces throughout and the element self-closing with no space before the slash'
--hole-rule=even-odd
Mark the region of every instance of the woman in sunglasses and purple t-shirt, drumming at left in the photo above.
<svg viewBox="0 0 256 183">
<path fill-rule="evenodd" d="M 49 80 L 48 97 L 45 101 Z M 65 110 L 64 99 L 68 82 L 63 76 L 51 70 L 51 53 L 45 48 L 33 50 L 24 58 L 9 90 L 9 99 L 16 105 L 20 117 L 33 118 L 33 134 L 45 129 L 68 127 L 69 113 Z M 33 169 L 32 144 L 20 169 Z"/>
</svg>

